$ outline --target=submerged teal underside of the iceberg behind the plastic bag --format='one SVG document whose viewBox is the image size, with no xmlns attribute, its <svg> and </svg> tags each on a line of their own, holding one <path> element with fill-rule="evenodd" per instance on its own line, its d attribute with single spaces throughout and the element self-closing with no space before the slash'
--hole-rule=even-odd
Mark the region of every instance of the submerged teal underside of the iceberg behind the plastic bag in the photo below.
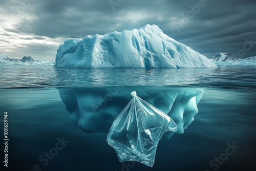
<svg viewBox="0 0 256 171">
<path fill-rule="evenodd" d="M 57 88 L 61 100 L 70 112 L 70 119 L 87 133 L 108 133 L 109 129 L 126 104 L 130 93 L 153 104 L 178 125 L 177 133 L 194 121 L 198 113 L 203 88 L 178 87 L 108 87 L 108 88 Z M 173 132 L 163 136 L 169 139 Z"/>
</svg>

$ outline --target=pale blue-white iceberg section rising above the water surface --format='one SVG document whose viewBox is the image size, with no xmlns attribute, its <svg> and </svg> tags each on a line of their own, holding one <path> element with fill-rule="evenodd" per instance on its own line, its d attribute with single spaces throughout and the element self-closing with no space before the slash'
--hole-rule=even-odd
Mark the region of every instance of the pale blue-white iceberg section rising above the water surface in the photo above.
<svg viewBox="0 0 256 171">
<path fill-rule="evenodd" d="M 60 45 L 59 68 L 208 68 L 207 57 L 170 38 L 157 25 L 67 39 Z"/>
</svg>

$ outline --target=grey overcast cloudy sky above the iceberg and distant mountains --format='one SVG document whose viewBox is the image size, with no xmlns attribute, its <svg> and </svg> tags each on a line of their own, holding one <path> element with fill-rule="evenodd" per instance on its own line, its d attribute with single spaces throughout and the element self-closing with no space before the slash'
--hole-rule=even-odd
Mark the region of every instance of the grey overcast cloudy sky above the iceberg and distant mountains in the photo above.
<svg viewBox="0 0 256 171">
<path fill-rule="evenodd" d="M 256 56 L 254 0 L 1 0 L 0 54 L 55 58 L 67 38 L 156 24 L 211 57 Z"/>
</svg>

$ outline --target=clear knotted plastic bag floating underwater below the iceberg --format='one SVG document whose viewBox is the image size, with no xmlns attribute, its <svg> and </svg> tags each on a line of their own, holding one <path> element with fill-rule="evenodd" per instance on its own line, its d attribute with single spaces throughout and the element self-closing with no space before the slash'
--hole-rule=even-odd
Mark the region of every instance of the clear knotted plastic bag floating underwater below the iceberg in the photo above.
<svg viewBox="0 0 256 171">
<path fill-rule="evenodd" d="M 137 161 L 153 167 L 157 144 L 165 132 L 177 131 L 168 115 L 131 93 L 133 99 L 113 122 L 107 141 L 120 162 Z"/>
</svg>

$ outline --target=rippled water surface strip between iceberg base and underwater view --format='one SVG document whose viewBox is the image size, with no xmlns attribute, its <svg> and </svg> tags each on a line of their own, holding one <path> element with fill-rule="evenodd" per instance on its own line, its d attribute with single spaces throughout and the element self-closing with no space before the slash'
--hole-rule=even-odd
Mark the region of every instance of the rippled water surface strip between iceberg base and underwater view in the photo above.
<svg viewBox="0 0 256 171">
<path fill-rule="evenodd" d="M 0 88 L 189 86 L 256 88 L 255 66 L 193 69 L 64 69 L 0 65 Z"/>
</svg>

